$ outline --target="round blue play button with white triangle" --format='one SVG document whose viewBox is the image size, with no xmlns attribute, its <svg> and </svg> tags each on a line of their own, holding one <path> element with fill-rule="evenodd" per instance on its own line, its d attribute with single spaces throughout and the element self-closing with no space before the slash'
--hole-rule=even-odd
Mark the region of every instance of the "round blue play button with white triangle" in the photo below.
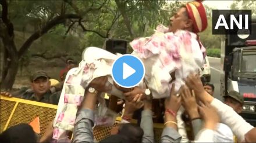
<svg viewBox="0 0 256 143">
<path fill-rule="evenodd" d="M 114 61 L 112 78 L 122 87 L 137 86 L 143 80 L 145 68 L 141 60 L 131 54 L 125 54 Z"/>
</svg>

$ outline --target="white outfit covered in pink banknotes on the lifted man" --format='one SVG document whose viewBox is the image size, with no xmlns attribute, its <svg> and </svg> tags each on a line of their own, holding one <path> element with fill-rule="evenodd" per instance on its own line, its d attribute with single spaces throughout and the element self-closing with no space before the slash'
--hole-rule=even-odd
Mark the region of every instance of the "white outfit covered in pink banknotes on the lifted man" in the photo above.
<svg viewBox="0 0 256 143">
<path fill-rule="evenodd" d="M 184 85 L 184 78 L 190 72 L 201 71 L 204 57 L 197 41 L 197 35 L 189 31 L 163 33 L 156 31 L 150 38 L 135 39 L 130 43 L 134 56 L 143 61 L 145 82 L 154 98 L 168 97 L 172 83 L 170 73 L 175 72 L 175 89 Z M 113 85 L 112 64 L 119 55 L 97 47 L 88 47 L 82 54 L 78 68 L 71 69 L 66 76 L 58 111 L 54 122 L 54 138 L 59 139 L 65 130 L 72 130 L 77 105 L 81 104 L 84 89 L 94 78 L 108 75 L 107 85 Z M 143 87 L 144 84 L 138 85 Z M 123 98 L 122 91 L 112 86 L 109 94 Z"/>
</svg>

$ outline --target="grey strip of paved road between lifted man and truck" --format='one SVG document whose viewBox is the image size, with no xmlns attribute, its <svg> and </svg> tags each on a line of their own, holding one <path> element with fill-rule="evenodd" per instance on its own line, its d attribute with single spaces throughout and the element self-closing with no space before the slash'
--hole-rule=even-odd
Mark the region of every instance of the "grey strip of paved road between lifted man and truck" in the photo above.
<svg viewBox="0 0 256 143">
<path fill-rule="evenodd" d="M 208 57 L 211 67 L 211 83 L 214 84 L 214 97 L 222 100 L 221 97 L 221 59 Z"/>
</svg>

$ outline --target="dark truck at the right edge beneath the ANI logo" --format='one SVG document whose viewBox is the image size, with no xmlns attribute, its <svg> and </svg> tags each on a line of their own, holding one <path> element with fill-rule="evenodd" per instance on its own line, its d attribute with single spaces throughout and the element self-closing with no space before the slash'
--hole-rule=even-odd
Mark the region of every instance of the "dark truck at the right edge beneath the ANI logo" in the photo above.
<svg viewBox="0 0 256 143">
<path fill-rule="evenodd" d="M 247 35 L 223 35 L 221 41 L 221 96 L 231 90 L 244 98 L 240 115 L 256 126 L 256 19 Z"/>
</svg>

